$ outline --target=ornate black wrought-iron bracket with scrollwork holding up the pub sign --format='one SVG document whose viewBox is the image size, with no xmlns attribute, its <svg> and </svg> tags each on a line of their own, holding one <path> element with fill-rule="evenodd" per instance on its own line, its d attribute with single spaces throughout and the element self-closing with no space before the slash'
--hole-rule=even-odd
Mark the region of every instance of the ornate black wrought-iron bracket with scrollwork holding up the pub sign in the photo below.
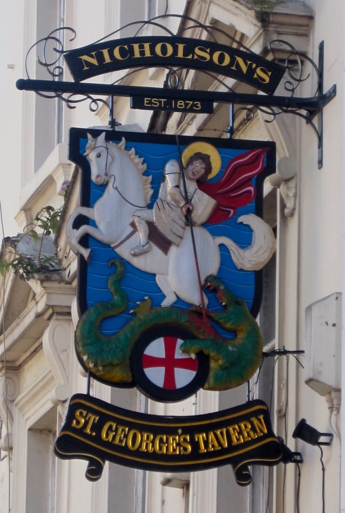
<svg viewBox="0 0 345 513">
<path fill-rule="evenodd" d="M 188 30 L 201 28 L 204 30 L 205 37 L 211 41 L 217 42 L 217 37 L 221 36 L 228 38 L 228 45 L 237 45 L 242 51 L 248 54 L 248 59 L 255 55 L 250 48 L 247 48 L 242 44 L 241 41 L 228 35 L 223 30 L 213 26 L 205 26 L 200 24 L 199 21 L 190 17 L 184 17 L 179 15 L 170 15 L 170 17 L 179 17 L 181 21 L 189 21 L 190 26 L 180 28 L 176 36 L 185 36 Z M 134 36 L 142 35 L 141 32 L 147 29 L 149 26 L 154 26 L 155 30 L 161 30 L 161 32 L 168 37 L 175 37 L 164 26 L 164 21 L 167 15 L 153 18 L 149 21 L 138 21 L 134 24 L 126 26 L 135 29 Z M 162 22 L 162 23 L 161 23 Z M 121 30 L 121 29 L 119 29 Z M 112 34 L 95 41 L 98 44 L 100 41 L 108 40 L 110 36 L 115 36 L 119 30 L 112 32 Z M 290 113 L 299 116 L 308 123 L 317 137 L 318 147 L 318 167 L 322 167 L 322 150 L 323 150 L 323 123 L 322 123 L 322 110 L 324 106 L 330 102 L 336 95 L 336 86 L 333 85 L 326 93 L 324 93 L 324 44 L 323 42 L 319 45 L 319 62 L 318 65 L 313 62 L 312 59 L 306 55 L 299 53 L 288 41 L 275 39 L 271 41 L 267 53 L 273 57 L 273 61 L 277 62 L 285 68 L 285 75 L 282 80 L 282 88 L 286 95 L 258 95 L 258 94 L 244 94 L 237 93 L 233 88 L 228 85 L 228 81 L 219 78 L 219 74 L 208 71 L 206 68 L 199 69 L 197 73 L 204 73 L 213 77 L 215 82 L 221 84 L 222 89 L 225 91 L 199 91 L 199 90 L 184 90 L 182 68 L 169 68 L 166 77 L 165 88 L 147 88 L 139 86 L 124 86 L 121 85 L 121 81 L 124 77 L 128 77 L 133 73 L 141 71 L 141 68 L 132 69 L 126 73 L 123 77 L 112 84 L 94 84 L 94 83 L 82 83 L 82 82 L 65 82 L 61 80 L 63 78 L 63 55 L 67 53 L 67 50 L 63 48 L 63 42 L 58 37 L 59 35 L 65 35 L 70 32 L 70 41 L 75 39 L 76 32 L 72 28 L 65 27 L 53 32 L 43 39 L 37 41 L 30 50 L 26 57 L 26 73 L 28 79 L 18 80 L 17 88 L 26 91 L 35 91 L 37 94 L 48 97 L 48 98 L 59 98 L 66 103 L 68 108 L 75 109 L 78 103 L 89 101 L 90 110 L 97 111 L 100 104 L 105 104 L 109 109 L 109 124 L 112 128 L 115 127 L 116 123 L 113 116 L 113 100 L 117 96 L 127 97 L 158 97 L 161 100 L 169 100 L 176 97 L 176 91 L 178 89 L 178 96 L 181 100 L 208 100 L 210 102 L 226 103 L 230 105 L 230 111 L 233 114 L 230 116 L 235 122 L 241 113 L 245 113 L 245 120 L 250 120 L 253 117 L 255 109 L 261 111 L 266 115 L 266 122 L 273 122 L 277 118 L 277 115 L 282 113 Z M 187 34 L 188 35 L 188 34 Z M 50 80 L 31 80 L 28 63 L 30 62 L 30 55 L 34 50 L 41 50 L 41 57 L 37 57 L 39 65 L 46 68 Z M 306 82 L 312 75 L 316 75 L 316 88 L 315 93 L 311 97 L 298 97 L 297 90 L 299 86 Z M 234 106 L 237 106 L 234 109 Z M 315 117 L 317 116 L 317 124 L 315 124 Z M 228 127 L 227 131 L 232 135 L 235 128 L 234 126 Z"/>
</svg>

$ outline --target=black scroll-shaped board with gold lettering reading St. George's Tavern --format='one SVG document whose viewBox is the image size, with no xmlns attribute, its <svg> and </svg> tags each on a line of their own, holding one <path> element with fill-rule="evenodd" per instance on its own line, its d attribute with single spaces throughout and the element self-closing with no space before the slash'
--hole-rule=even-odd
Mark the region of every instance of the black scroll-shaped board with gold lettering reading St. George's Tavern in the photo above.
<svg viewBox="0 0 345 513">
<path fill-rule="evenodd" d="M 101 477 L 108 460 L 157 472 L 232 465 L 239 485 L 251 482 L 248 465 L 277 465 L 282 458 L 260 400 L 197 417 L 171 417 L 128 411 L 82 394 L 70 400 L 55 453 L 88 460 L 90 481 Z"/>
</svg>

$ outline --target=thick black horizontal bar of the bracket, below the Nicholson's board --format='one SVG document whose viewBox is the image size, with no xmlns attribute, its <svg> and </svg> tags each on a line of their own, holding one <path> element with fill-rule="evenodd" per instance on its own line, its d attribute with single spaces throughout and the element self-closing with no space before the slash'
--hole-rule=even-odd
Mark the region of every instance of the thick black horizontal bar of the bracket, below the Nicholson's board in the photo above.
<svg viewBox="0 0 345 513">
<path fill-rule="evenodd" d="M 184 89 L 164 89 L 158 87 L 121 86 L 114 84 L 93 84 L 90 82 L 54 82 L 50 80 L 19 79 L 16 86 L 23 91 L 80 93 L 103 96 L 139 96 L 158 97 L 162 99 L 175 98 L 176 95 L 184 100 L 210 100 L 213 102 L 233 103 L 242 105 L 276 106 L 283 109 L 304 109 L 315 115 L 337 94 L 334 84 L 322 95 L 308 98 L 288 96 L 250 95 L 223 91 L 198 91 Z"/>
</svg>

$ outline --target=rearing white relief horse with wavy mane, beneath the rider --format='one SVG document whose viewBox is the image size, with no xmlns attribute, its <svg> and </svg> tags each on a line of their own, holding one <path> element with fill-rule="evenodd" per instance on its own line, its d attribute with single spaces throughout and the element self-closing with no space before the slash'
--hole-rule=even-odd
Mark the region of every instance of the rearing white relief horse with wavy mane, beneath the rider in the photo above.
<svg viewBox="0 0 345 513">
<path fill-rule="evenodd" d="M 136 268 L 156 274 L 157 285 L 165 295 L 161 306 L 170 306 L 177 296 L 189 304 L 201 304 L 199 283 L 190 227 L 186 227 L 184 239 L 171 245 L 164 254 L 155 244 L 146 254 L 133 257 L 130 250 L 139 243 L 139 234 L 130 223 L 132 215 L 139 208 L 145 208 L 150 201 L 151 177 L 143 176 L 146 165 L 135 155 L 135 150 L 126 151 L 126 141 L 119 144 L 106 141 L 106 133 L 98 138 L 88 135 L 86 156 L 90 160 L 91 179 L 97 185 L 107 184 L 106 190 L 95 203 L 94 208 L 77 207 L 68 219 L 66 236 L 74 252 L 79 252 L 88 261 L 90 249 L 83 248 L 79 240 L 90 234 L 102 243 L 110 245 L 120 257 Z M 82 225 L 73 228 L 77 216 L 83 215 L 95 220 L 97 227 Z M 239 218 L 250 225 L 253 242 L 245 249 L 239 248 L 228 237 L 213 237 L 204 227 L 193 227 L 201 283 L 209 274 L 217 276 L 220 264 L 219 245 L 230 251 L 237 268 L 259 270 L 275 251 L 275 237 L 270 226 L 261 218 L 249 214 Z M 204 295 L 204 304 L 207 297 Z"/>
</svg>

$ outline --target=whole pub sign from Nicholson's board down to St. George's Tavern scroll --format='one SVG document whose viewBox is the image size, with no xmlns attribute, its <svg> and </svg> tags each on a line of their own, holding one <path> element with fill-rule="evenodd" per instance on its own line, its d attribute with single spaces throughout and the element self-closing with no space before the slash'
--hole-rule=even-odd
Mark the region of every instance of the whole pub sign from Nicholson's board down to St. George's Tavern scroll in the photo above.
<svg viewBox="0 0 345 513">
<path fill-rule="evenodd" d="M 101 41 L 63 57 L 77 82 L 143 65 L 207 66 L 271 94 L 284 73 L 253 53 L 184 37 Z M 210 96 L 130 89 L 132 109 L 213 111 Z M 262 218 L 275 144 L 71 129 L 69 152 L 81 184 L 66 225 L 79 255 L 75 348 L 88 376 L 160 402 L 248 382 L 262 360 L 261 270 L 275 252 Z M 109 460 L 159 472 L 229 464 L 248 485 L 248 465 L 276 465 L 282 443 L 260 400 L 171 417 L 88 393 L 70 399 L 55 453 L 87 460 L 90 481 Z"/>
</svg>

